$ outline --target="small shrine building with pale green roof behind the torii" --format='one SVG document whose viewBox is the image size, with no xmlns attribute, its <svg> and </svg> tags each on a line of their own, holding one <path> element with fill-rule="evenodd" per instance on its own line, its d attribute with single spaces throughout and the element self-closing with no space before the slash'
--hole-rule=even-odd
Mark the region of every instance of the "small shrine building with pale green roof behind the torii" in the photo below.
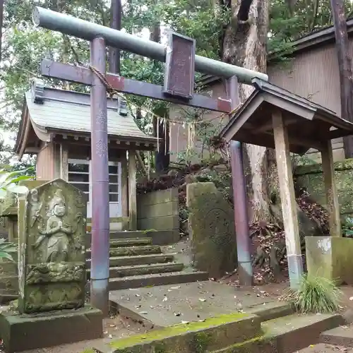
<svg viewBox="0 0 353 353">
<path fill-rule="evenodd" d="M 156 150 L 157 138 L 138 128 L 124 100 L 110 99 L 107 108 L 109 215 L 117 224 L 115 230 L 136 230 L 136 151 Z M 37 155 L 37 179 L 64 179 L 90 200 L 90 144 L 90 95 L 44 87 L 42 80 L 33 80 L 25 94 L 15 150 L 19 157 Z M 90 207 L 89 201 L 88 218 Z"/>
</svg>

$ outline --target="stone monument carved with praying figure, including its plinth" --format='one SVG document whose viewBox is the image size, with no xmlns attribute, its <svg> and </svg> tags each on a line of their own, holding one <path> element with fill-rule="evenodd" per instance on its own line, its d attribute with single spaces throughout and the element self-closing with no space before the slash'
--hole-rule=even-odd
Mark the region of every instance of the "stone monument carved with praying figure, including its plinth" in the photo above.
<svg viewBox="0 0 353 353">
<path fill-rule="evenodd" d="M 18 312 L 0 314 L 6 352 L 102 337 L 102 312 L 85 306 L 86 210 L 85 194 L 61 179 L 25 196 Z"/>
</svg>

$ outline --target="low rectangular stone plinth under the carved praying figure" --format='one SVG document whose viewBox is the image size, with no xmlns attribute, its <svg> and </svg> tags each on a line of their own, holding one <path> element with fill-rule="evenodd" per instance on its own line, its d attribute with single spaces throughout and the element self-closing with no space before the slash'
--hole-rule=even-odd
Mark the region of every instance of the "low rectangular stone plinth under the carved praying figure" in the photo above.
<svg viewBox="0 0 353 353">
<path fill-rule="evenodd" d="M 0 337 L 6 353 L 93 340 L 103 337 L 103 315 L 91 306 L 36 314 L 4 311 Z"/>
</svg>

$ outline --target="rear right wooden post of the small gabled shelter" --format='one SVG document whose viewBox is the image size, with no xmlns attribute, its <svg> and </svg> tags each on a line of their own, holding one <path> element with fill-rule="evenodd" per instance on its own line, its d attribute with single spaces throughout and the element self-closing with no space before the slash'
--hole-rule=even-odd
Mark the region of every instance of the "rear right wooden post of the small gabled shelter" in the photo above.
<svg viewBox="0 0 353 353">
<path fill-rule="evenodd" d="M 325 148 L 321 150 L 321 160 L 323 165 L 323 179 L 325 181 L 328 214 L 330 217 L 330 236 L 342 237 L 340 205 L 338 203 L 335 184 L 335 168 L 333 167 L 333 151 L 330 140 L 328 140 Z"/>
</svg>

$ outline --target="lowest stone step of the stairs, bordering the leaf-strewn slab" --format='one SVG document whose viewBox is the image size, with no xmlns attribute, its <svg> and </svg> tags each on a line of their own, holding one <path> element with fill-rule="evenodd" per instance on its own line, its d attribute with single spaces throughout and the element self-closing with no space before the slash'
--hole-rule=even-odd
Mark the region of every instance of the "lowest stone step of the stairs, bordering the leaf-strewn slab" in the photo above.
<svg viewBox="0 0 353 353">
<path fill-rule="evenodd" d="M 120 290 L 139 287 L 154 287 L 160 285 L 176 285 L 178 283 L 189 283 L 208 280 L 205 272 L 171 272 L 152 275 L 136 275 L 122 278 L 110 278 L 109 290 Z"/>
</svg>

